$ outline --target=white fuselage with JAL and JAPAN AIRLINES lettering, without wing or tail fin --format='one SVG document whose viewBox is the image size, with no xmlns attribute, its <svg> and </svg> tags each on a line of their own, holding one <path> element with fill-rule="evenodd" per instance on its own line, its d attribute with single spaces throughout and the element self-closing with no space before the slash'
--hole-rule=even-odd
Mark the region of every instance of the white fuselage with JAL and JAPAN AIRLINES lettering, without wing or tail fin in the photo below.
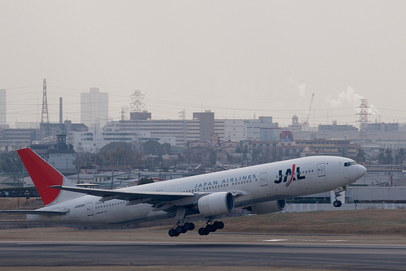
<svg viewBox="0 0 406 271">
<path fill-rule="evenodd" d="M 238 192 L 235 208 L 259 202 L 310 195 L 355 182 L 363 174 L 362 165 L 344 166 L 352 161 L 334 156 L 313 156 L 261 164 L 235 170 L 203 174 L 175 180 L 120 188 L 122 191 L 193 192 L 195 196 L 167 202 L 174 206 L 190 206 L 200 195 L 221 191 Z M 293 176 L 292 176 L 293 175 Z M 117 189 L 117 191 L 119 191 Z M 60 216 L 27 215 L 28 220 L 91 225 L 124 225 L 150 219 L 174 218 L 176 212 L 157 211 L 156 206 L 85 195 L 48 205 L 40 210 L 66 210 Z"/>
</svg>

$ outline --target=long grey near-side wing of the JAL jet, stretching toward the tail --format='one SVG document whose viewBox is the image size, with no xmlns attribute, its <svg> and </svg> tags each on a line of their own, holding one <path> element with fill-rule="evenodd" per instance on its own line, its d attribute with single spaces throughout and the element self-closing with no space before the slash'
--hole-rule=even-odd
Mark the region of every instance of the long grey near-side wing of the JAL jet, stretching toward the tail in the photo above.
<svg viewBox="0 0 406 271">
<path fill-rule="evenodd" d="M 148 199 L 152 201 L 172 201 L 189 196 L 194 196 L 191 192 L 145 192 L 145 191 L 122 191 L 122 190 L 110 190 L 110 189 L 96 189 L 96 188 L 82 188 L 71 187 L 62 185 L 49 186 L 55 189 L 84 193 L 93 196 L 102 197 L 102 200 L 109 200 L 113 198 L 121 200 L 134 200 L 134 199 Z"/>
</svg>

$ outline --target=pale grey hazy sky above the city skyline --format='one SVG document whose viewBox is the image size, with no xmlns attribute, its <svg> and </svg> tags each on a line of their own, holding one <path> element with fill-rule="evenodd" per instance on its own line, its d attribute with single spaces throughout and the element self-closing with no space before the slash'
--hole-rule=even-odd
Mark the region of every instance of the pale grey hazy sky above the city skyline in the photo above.
<svg viewBox="0 0 406 271">
<path fill-rule="evenodd" d="M 145 94 L 153 119 L 294 114 L 310 124 L 406 122 L 405 1 L 0 1 L 7 122 L 80 122 L 80 93 L 109 93 L 109 115 Z M 0 101 L 2 103 L 3 101 Z M 379 117 L 380 115 L 380 117 Z M 126 113 L 128 118 L 128 113 Z"/>
</svg>

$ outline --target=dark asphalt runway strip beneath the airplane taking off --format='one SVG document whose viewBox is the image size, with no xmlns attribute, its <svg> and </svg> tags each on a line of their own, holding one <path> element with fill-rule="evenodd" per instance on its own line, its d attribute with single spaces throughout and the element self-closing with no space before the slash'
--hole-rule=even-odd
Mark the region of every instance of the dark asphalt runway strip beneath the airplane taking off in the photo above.
<svg viewBox="0 0 406 271">
<path fill-rule="evenodd" d="M 405 270 L 406 245 L 0 242 L 5 267 L 194 266 L 322 270 Z"/>
</svg>

